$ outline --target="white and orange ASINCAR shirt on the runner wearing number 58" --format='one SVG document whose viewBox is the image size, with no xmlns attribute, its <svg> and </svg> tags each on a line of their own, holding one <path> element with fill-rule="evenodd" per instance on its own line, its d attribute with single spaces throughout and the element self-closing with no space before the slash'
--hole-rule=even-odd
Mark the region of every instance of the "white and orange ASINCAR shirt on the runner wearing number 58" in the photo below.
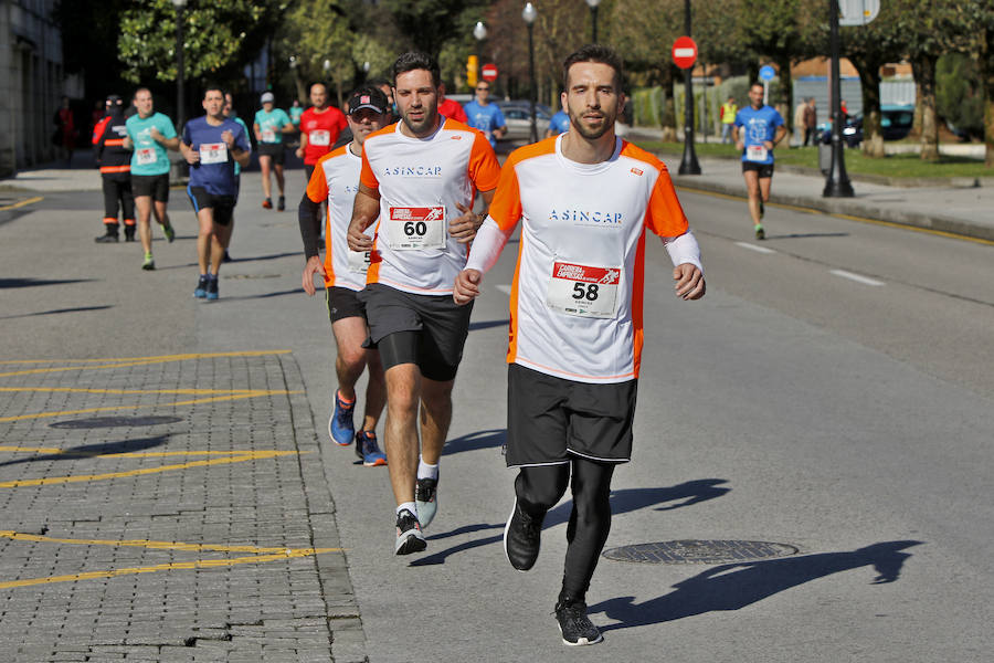
<svg viewBox="0 0 994 663">
<path fill-rule="evenodd" d="M 657 158 L 617 139 L 609 160 L 579 164 L 561 144 L 548 138 L 508 157 L 484 225 L 496 222 L 503 241 L 524 221 L 507 360 L 567 380 L 624 382 L 638 377 L 642 355 L 645 231 L 669 242 L 686 234 L 690 255 L 697 243 Z M 486 269 L 477 253 L 488 250 L 475 248 L 467 266 Z"/>
</svg>

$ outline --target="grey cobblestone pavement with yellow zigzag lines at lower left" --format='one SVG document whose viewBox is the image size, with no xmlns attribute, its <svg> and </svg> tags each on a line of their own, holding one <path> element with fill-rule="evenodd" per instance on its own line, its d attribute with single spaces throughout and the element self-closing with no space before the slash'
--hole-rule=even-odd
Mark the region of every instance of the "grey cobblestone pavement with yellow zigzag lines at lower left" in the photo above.
<svg viewBox="0 0 994 663">
<path fill-rule="evenodd" d="M 292 355 L 0 364 L 0 660 L 361 661 Z"/>
</svg>

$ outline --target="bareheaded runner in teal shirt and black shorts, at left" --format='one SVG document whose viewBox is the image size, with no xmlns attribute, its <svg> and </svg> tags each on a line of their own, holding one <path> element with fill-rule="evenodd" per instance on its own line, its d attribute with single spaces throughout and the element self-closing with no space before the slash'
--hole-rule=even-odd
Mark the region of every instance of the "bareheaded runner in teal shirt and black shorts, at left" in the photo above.
<svg viewBox="0 0 994 663">
<path fill-rule="evenodd" d="M 166 206 L 169 203 L 169 155 L 167 149 L 179 149 L 179 137 L 172 120 L 155 112 L 155 102 L 148 87 L 139 87 L 133 99 L 138 113 L 125 123 L 127 136 L 124 147 L 131 151 L 131 191 L 138 212 L 138 236 L 145 250 L 142 270 L 155 270 L 151 253 L 151 214 L 162 227 L 162 234 L 169 242 L 176 239 L 176 231 L 169 223 Z"/>
</svg>

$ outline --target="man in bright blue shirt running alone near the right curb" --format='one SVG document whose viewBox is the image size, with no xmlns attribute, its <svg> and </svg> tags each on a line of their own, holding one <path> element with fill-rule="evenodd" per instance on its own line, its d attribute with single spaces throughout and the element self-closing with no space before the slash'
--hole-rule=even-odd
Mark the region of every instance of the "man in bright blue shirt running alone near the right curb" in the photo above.
<svg viewBox="0 0 994 663">
<path fill-rule="evenodd" d="M 763 203 L 770 200 L 773 181 L 773 147 L 783 140 L 786 127 L 783 117 L 772 106 L 763 105 L 763 84 L 753 83 L 749 88 L 749 107 L 736 115 L 732 137 L 742 150 L 742 176 L 749 191 L 749 213 L 755 229 L 755 239 L 766 238 L 763 228 Z"/>
</svg>

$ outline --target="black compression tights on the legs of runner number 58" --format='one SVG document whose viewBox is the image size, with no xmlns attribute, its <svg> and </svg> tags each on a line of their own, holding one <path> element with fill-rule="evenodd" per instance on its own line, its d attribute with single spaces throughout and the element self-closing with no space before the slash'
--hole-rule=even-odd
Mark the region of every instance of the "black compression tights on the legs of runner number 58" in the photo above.
<svg viewBox="0 0 994 663">
<path fill-rule="evenodd" d="M 610 497 L 614 464 L 574 457 L 562 465 L 521 467 L 515 481 L 515 493 L 525 513 L 533 518 L 543 518 L 546 512 L 556 506 L 565 493 L 571 471 L 573 509 L 567 527 L 569 546 L 559 598 L 584 601 L 611 530 Z"/>
</svg>

